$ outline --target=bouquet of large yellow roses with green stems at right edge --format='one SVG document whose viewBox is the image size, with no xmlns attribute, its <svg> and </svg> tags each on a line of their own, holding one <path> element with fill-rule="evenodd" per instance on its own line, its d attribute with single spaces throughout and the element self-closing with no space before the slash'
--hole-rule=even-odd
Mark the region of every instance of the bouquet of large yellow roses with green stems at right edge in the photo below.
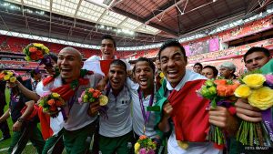
<svg viewBox="0 0 273 154">
<path fill-rule="evenodd" d="M 272 113 L 270 113 L 273 106 L 273 89 L 270 88 L 273 85 L 272 80 L 270 81 L 272 77 L 272 75 L 265 77 L 258 71 L 253 74 L 249 72 L 240 77 L 242 85 L 235 90 L 235 96 L 248 99 L 249 105 L 262 110 L 263 115 L 261 122 L 255 123 L 244 120 L 241 122 L 236 138 L 243 145 L 268 147 L 273 145 Z"/>
</svg>

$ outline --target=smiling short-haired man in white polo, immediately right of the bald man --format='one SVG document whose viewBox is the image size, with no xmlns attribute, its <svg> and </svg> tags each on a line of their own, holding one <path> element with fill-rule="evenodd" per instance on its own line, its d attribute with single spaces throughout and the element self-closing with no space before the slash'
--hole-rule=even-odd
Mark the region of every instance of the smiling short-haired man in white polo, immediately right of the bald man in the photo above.
<svg viewBox="0 0 273 154">
<path fill-rule="evenodd" d="M 109 98 L 107 118 L 99 118 L 99 150 L 103 154 L 129 154 L 133 139 L 131 118 L 131 94 L 126 86 L 126 64 L 114 60 L 108 73 L 105 90 Z"/>
</svg>

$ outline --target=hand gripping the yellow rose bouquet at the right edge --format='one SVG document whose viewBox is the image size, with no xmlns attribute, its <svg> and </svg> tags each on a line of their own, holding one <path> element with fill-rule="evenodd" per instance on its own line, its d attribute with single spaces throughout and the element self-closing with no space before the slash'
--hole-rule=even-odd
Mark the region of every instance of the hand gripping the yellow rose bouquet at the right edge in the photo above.
<svg viewBox="0 0 273 154">
<path fill-rule="evenodd" d="M 236 114 L 238 118 L 242 118 L 249 122 L 259 122 L 262 120 L 262 114 L 258 108 L 254 108 L 248 104 L 247 99 L 238 98 L 235 103 Z"/>
</svg>

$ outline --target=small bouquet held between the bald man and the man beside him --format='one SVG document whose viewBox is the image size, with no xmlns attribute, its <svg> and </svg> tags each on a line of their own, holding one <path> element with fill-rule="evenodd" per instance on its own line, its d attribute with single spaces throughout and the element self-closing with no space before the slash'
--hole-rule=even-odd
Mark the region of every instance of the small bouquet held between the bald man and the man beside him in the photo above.
<svg viewBox="0 0 273 154">
<path fill-rule="evenodd" d="M 107 118 L 106 111 L 108 108 L 106 105 L 108 104 L 108 98 L 105 95 L 102 95 L 99 90 L 94 89 L 93 87 L 86 88 L 81 97 L 78 98 L 78 102 L 80 104 L 98 102 L 100 106 L 98 109 L 99 114 L 103 118 Z"/>
</svg>

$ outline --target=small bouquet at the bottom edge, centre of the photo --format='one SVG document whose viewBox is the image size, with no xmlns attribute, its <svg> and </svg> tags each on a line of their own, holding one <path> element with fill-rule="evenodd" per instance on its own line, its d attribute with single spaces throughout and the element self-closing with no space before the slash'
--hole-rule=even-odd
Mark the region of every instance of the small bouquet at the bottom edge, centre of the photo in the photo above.
<svg viewBox="0 0 273 154">
<path fill-rule="evenodd" d="M 142 135 L 136 141 L 134 148 L 136 154 L 156 154 L 157 143 L 147 138 L 146 135 Z"/>
</svg>

